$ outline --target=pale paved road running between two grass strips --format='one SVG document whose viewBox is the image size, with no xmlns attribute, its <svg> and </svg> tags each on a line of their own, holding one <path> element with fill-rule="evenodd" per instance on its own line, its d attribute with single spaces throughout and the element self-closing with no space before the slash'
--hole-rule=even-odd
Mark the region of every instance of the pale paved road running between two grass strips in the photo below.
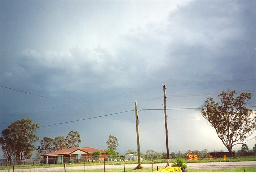
<svg viewBox="0 0 256 173">
<path fill-rule="evenodd" d="M 154 164 L 153 167 L 164 168 L 166 164 L 158 163 Z M 135 168 L 137 164 L 125 165 L 125 168 Z M 152 168 L 152 164 L 142 164 L 145 168 Z M 105 169 L 117 169 L 124 168 L 124 165 L 105 165 Z M 207 163 L 188 163 L 187 168 L 189 169 L 229 169 L 229 168 L 256 168 L 256 161 L 235 161 L 235 162 L 207 162 Z M 103 165 L 92 165 L 85 166 L 85 169 L 104 169 Z M 84 170 L 83 166 L 79 167 L 66 167 L 66 170 Z M 30 169 L 14 169 L 15 172 L 30 172 Z M 50 168 L 50 172 L 63 171 L 64 167 Z M 8 172 L 8 170 L 0 170 L 0 172 Z M 12 170 L 9 170 L 12 172 Z M 36 168 L 32 167 L 31 172 L 48 172 L 48 168 Z"/>
</svg>

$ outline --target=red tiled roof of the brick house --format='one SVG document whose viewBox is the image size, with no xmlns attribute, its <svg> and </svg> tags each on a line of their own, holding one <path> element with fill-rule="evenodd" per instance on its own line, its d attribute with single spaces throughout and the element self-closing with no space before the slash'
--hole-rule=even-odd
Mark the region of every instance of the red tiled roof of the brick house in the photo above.
<svg viewBox="0 0 256 173">
<path fill-rule="evenodd" d="M 87 153 L 92 153 L 94 151 L 100 151 L 101 153 L 105 153 L 106 151 L 104 150 L 100 150 L 97 148 L 92 148 L 92 147 L 82 147 L 82 148 L 63 148 L 57 151 L 52 151 L 52 152 L 48 152 L 46 154 L 42 154 L 42 156 L 50 156 L 50 155 L 69 155 L 72 154 L 73 152 L 75 152 L 76 150 L 81 150 Z"/>
</svg>

